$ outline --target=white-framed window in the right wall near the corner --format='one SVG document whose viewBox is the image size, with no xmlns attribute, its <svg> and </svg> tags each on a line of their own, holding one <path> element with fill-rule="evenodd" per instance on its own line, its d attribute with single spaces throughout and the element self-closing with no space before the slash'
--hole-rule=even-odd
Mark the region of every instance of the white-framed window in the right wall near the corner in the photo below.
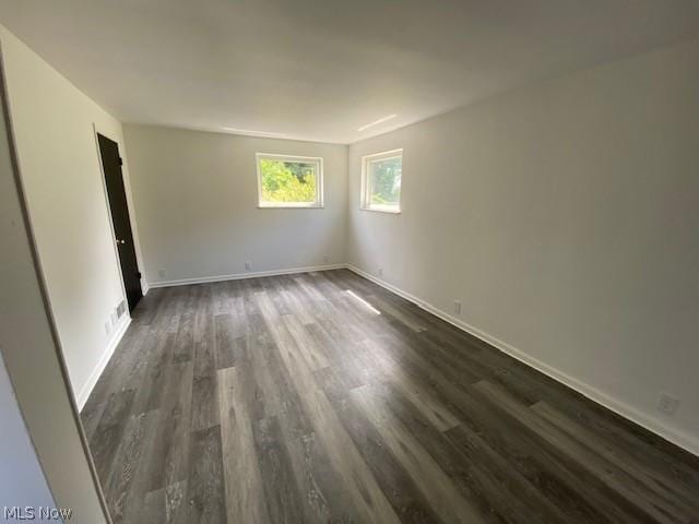
<svg viewBox="0 0 699 524">
<path fill-rule="evenodd" d="M 403 150 L 387 151 L 362 158 L 362 209 L 401 212 Z"/>
</svg>

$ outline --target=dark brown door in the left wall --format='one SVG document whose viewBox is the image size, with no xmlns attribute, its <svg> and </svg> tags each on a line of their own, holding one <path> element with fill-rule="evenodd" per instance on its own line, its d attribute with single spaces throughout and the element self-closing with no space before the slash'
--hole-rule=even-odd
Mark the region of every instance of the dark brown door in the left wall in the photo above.
<svg viewBox="0 0 699 524">
<path fill-rule="evenodd" d="M 97 139 L 99 141 L 102 167 L 105 172 L 107 196 L 109 198 L 111 223 L 114 224 L 114 241 L 119 251 L 121 277 L 123 278 L 123 287 L 127 290 L 129 311 L 133 311 L 133 308 L 135 308 L 135 305 L 139 303 L 143 295 L 141 293 L 141 273 L 139 272 L 139 265 L 135 260 L 131 221 L 129 219 L 127 193 L 123 189 L 119 145 L 102 134 L 97 134 Z"/>
</svg>

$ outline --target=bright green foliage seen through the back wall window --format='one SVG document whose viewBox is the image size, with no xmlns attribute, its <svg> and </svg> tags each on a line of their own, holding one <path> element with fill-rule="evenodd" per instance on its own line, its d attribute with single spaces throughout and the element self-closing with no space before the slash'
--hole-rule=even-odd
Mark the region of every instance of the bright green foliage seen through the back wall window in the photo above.
<svg viewBox="0 0 699 524">
<path fill-rule="evenodd" d="M 316 202 L 316 164 L 260 158 L 263 202 Z"/>
</svg>

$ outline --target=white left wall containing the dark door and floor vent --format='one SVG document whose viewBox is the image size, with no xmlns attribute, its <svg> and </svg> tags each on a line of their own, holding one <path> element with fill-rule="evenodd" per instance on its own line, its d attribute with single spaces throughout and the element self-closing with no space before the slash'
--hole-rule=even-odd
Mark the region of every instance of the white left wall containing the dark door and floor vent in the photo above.
<svg viewBox="0 0 699 524">
<path fill-rule="evenodd" d="M 108 335 L 105 322 L 123 299 L 93 124 L 117 141 L 126 157 L 121 124 L 2 26 L 0 44 L 20 171 L 71 382 L 82 403 L 119 333 L 115 329 Z M 125 178 L 128 184 L 126 165 Z"/>
</svg>

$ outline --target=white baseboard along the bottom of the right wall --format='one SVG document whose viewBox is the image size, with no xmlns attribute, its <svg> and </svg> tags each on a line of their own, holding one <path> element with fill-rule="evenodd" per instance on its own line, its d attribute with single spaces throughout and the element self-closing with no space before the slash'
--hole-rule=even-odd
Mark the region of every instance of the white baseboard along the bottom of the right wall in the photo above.
<svg viewBox="0 0 699 524">
<path fill-rule="evenodd" d="M 400 289 L 399 287 L 395 287 L 394 285 L 389 284 L 386 281 L 377 278 L 376 276 L 365 272 L 364 270 L 360 270 L 359 267 L 356 267 L 352 264 L 346 264 L 345 266 L 350 271 L 353 271 L 354 273 L 356 273 L 357 275 L 363 276 L 374 282 L 375 284 L 378 284 L 379 286 L 384 287 L 386 289 L 393 291 L 396 295 L 403 297 L 404 299 L 415 303 L 419 308 L 433 313 L 435 317 L 440 318 L 445 322 L 449 322 L 450 324 L 459 327 L 460 330 L 465 331 L 466 333 L 490 344 L 491 346 L 511 356 L 512 358 L 516 358 L 517 360 L 536 369 L 537 371 L 541 371 L 542 373 L 550 377 L 552 379 L 558 382 L 561 382 L 562 384 L 567 385 L 571 390 L 574 390 L 581 395 L 590 398 L 591 401 L 597 404 L 601 404 L 607 409 L 613 410 L 617 415 L 620 415 L 621 417 L 638 424 L 642 428 L 645 428 L 647 430 L 662 437 L 668 442 L 672 442 L 673 444 L 699 456 L 699 439 L 697 439 L 696 437 L 688 434 L 684 431 L 667 428 L 666 426 L 663 425 L 661 420 L 643 412 L 640 412 L 637 408 L 631 407 L 624 402 L 620 402 L 607 395 L 606 393 L 597 390 L 596 388 L 585 382 L 582 382 L 569 376 L 568 373 L 565 373 L 564 371 L 560 371 L 552 366 L 548 366 L 547 364 L 528 355 L 521 349 L 518 349 L 517 347 L 513 347 L 510 344 L 502 342 L 496 338 L 495 336 L 491 336 L 478 330 L 477 327 L 474 327 L 467 324 L 466 322 L 450 315 L 449 313 L 446 313 L 445 311 L 436 308 L 431 303 L 418 297 L 415 297 L 414 295 L 411 295 L 410 293 L 406 293 L 403 289 Z"/>
</svg>

